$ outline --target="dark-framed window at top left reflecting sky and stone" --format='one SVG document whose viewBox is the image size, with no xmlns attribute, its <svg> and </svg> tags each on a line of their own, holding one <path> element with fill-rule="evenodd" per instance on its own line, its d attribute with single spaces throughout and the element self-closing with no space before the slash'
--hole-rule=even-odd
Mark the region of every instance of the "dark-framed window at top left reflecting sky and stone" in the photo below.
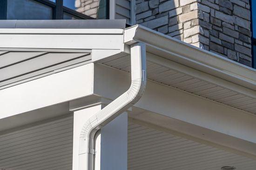
<svg viewBox="0 0 256 170">
<path fill-rule="evenodd" d="M 108 19 L 107 0 L 0 0 L 0 19 Z"/>
</svg>

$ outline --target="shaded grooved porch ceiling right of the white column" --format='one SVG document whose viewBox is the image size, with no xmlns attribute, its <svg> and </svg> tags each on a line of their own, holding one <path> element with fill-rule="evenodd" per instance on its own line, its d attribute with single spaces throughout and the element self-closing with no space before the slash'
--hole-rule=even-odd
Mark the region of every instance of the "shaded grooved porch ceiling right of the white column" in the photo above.
<svg viewBox="0 0 256 170">
<path fill-rule="evenodd" d="M 256 160 L 167 132 L 128 123 L 128 170 L 255 170 Z"/>
</svg>

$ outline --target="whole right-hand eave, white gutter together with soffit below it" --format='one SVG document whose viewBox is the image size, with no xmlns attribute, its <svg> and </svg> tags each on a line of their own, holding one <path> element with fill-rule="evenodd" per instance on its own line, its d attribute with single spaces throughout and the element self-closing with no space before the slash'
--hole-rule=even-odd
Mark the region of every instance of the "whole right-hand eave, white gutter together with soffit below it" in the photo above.
<svg viewBox="0 0 256 170">
<path fill-rule="evenodd" d="M 127 28 L 124 42 L 147 44 L 148 79 L 256 113 L 255 69 L 141 25 Z M 129 71 L 128 56 L 101 63 Z"/>
</svg>

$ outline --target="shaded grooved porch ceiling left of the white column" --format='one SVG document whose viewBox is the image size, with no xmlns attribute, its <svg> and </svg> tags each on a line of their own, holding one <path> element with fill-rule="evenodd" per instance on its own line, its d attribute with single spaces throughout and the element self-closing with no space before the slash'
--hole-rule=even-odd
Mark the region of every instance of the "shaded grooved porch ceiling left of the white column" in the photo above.
<svg viewBox="0 0 256 170">
<path fill-rule="evenodd" d="M 71 170 L 73 116 L 0 133 L 0 170 Z"/>
</svg>

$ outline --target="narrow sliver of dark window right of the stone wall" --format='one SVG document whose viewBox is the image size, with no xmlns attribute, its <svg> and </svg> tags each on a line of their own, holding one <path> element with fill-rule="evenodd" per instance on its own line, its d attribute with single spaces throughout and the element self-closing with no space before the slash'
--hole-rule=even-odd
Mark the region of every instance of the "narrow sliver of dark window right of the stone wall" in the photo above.
<svg viewBox="0 0 256 170">
<path fill-rule="evenodd" d="M 251 20 L 252 20 L 252 66 L 256 68 L 256 0 L 251 0 Z"/>
</svg>

